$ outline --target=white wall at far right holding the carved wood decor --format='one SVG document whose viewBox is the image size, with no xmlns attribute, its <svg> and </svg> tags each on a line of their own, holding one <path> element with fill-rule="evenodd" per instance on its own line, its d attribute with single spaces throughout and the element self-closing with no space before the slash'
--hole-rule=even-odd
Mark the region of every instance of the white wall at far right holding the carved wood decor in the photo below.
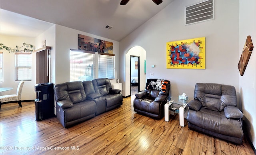
<svg viewBox="0 0 256 155">
<path fill-rule="evenodd" d="M 239 91 L 245 116 L 245 129 L 256 148 L 256 2 L 255 0 L 239 1 L 239 52 L 240 58 L 247 36 L 251 36 L 254 49 L 244 72 L 239 76 Z"/>
</svg>

